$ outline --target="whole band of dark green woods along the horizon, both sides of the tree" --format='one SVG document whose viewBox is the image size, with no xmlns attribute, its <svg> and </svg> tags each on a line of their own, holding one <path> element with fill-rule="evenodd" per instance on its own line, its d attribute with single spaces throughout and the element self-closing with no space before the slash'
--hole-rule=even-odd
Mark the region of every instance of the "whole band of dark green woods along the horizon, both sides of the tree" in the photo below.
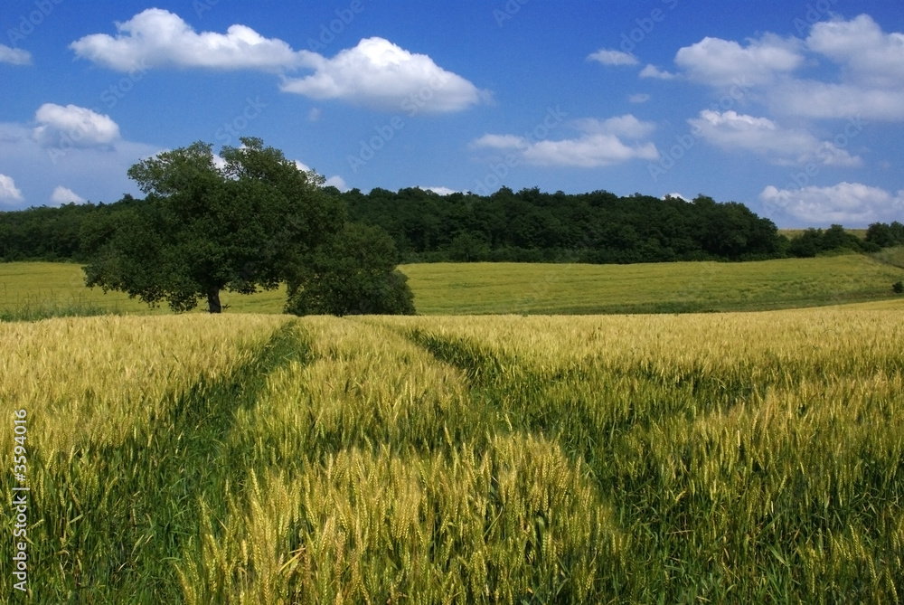
<svg viewBox="0 0 904 605">
<path fill-rule="evenodd" d="M 705 195 L 686 202 L 605 191 L 515 193 L 505 187 L 489 196 L 443 196 L 418 188 L 363 194 L 326 187 L 325 192 L 344 201 L 351 221 L 388 232 L 401 262 L 762 260 L 904 244 L 900 222 L 871 225 L 865 240 L 838 225 L 788 240 L 745 205 L 716 203 Z M 117 203 L 0 213 L 0 259 L 88 260 L 83 225 L 140 203 L 126 195 Z"/>
</svg>

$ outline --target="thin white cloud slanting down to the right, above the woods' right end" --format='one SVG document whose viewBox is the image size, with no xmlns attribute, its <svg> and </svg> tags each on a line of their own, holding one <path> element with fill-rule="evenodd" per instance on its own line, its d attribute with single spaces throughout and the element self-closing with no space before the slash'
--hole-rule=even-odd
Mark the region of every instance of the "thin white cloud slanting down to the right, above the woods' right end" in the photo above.
<svg viewBox="0 0 904 605">
<path fill-rule="evenodd" d="M 689 119 L 688 123 L 695 133 L 717 147 L 746 149 L 767 156 L 778 165 L 862 165 L 860 157 L 851 156 L 833 142 L 820 141 L 805 130 L 781 128 L 768 118 L 704 109 L 699 118 Z"/>
</svg>

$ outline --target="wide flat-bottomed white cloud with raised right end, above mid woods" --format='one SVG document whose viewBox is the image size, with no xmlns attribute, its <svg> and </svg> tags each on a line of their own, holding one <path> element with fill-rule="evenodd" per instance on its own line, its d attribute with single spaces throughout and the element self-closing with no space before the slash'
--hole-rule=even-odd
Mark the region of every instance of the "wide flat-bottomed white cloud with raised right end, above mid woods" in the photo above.
<svg viewBox="0 0 904 605">
<path fill-rule="evenodd" d="M 525 164 L 542 166 L 594 168 L 633 159 L 659 159 L 653 143 L 637 140 L 652 133 L 655 125 L 630 114 L 602 121 L 580 119 L 571 126 L 579 131 L 579 137 L 537 141 L 517 135 L 488 134 L 474 141 L 472 147 L 507 151 Z"/>
</svg>

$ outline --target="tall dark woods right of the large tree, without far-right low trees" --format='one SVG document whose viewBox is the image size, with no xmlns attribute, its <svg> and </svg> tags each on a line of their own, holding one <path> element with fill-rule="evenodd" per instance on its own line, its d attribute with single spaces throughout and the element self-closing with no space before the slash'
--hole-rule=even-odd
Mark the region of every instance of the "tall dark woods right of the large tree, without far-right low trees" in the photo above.
<svg viewBox="0 0 904 605">
<path fill-rule="evenodd" d="M 754 260 L 781 256 L 785 241 L 743 204 L 705 195 L 689 203 L 503 187 L 484 197 L 417 188 L 342 197 L 353 220 L 381 225 L 408 261 Z"/>
</svg>

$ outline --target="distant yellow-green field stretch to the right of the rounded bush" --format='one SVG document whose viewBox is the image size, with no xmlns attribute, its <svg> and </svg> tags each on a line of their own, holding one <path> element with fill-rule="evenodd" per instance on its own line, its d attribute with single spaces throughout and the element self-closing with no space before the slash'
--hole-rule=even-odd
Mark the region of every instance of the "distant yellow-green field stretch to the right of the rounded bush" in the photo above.
<svg viewBox="0 0 904 605">
<path fill-rule="evenodd" d="M 594 314 L 767 310 L 894 298 L 904 270 L 869 257 L 720 263 L 418 264 L 420 314 Z"/>
</svg>

